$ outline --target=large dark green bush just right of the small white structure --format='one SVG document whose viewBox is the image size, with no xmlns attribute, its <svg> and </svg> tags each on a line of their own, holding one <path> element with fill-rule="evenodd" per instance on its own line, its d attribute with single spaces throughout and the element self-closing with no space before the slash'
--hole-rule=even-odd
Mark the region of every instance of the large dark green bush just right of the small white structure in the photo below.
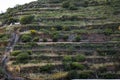
<svg viewBox="0 0 120 80">
<path fill-rule="evenodd" d="M 23 16 L 20 18 L 20 23 L 21 24 L 30 24 L 34 21 L 34 16 L 33 15 L 27 15 Z"/>
</svg>

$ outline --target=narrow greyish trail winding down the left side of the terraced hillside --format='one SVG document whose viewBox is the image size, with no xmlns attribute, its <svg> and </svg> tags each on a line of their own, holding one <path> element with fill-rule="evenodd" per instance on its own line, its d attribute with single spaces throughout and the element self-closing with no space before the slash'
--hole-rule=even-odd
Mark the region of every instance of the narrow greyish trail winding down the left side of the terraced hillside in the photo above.
<svg viewBox="0 0 120 80">
<path fill-rule="evenodd" d="M 7 63 L 9 61 L 10 53 L 13 51 L 15 44 L 19 39 L 19 33 L 17 30 L 14 30 L 11 33 L 11 37 L 9 43 L 5 49 L 4 56 L 2 58 L 2 69 L 4 72 L 5 80 L 25 80 L 24 78 L 15 78 L 8 70 L 7 70 Z"/>
</svg>

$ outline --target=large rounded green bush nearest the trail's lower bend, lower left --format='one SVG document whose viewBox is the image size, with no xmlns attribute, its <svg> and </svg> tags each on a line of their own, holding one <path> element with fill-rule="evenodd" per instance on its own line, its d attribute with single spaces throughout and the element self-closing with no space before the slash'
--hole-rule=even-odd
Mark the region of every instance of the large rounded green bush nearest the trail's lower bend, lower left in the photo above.
<svg viewBox="0 0 120 80">
<path fill-rule="evenodd" d="M 16 57 L 16 61 L 19 63 L 26 63 L 28 59 L 29 59 L 29 54 L 27 52 L 18 54 Z"/>
</svg>

